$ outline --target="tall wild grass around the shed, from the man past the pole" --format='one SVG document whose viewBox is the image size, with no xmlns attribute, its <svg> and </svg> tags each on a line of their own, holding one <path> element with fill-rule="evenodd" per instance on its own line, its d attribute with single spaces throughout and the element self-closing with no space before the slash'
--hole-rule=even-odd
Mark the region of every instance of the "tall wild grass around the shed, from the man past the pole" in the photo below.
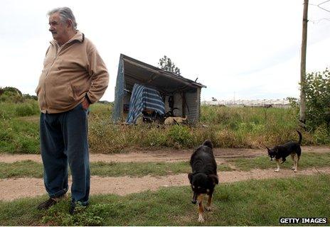
<svg viewBox="0 0 330 227">
<path fill-rule="evenodd" d="M 298 138 L 292 109 L 201 106 L 201 122 L 192 127 L 114 125 L 111 118 L 102 114 L 91 116 L 90 120 L 90 146 L 95 153 L 119 153 L 134 147 L 193 149 L 206 139 L 211 139 L 215 148 L 261 148 L 262 144 L 280 144 Z M 317 134 L 319 144 L 327 143 L 324 135 L 327 135 L 324 131 Z M 316 144 L 313 134 L 303 132 L 303 137 L 304 144 Z"/>
</svg>

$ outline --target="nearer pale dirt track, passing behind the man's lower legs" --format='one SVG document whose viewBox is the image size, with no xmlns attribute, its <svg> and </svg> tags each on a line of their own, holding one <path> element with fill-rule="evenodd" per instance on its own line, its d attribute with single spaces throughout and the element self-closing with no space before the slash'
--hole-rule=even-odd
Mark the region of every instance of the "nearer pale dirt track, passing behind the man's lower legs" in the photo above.
<svg viewBox="0 0 330 227">
<path fill-rule="evenodd" d="M 268 179 L 275 177 L 294 177 L 299 175 L 316 175 L 319 173 L 330 174 L 330 167 L 312 168 L 299 170 L 294 173 L 292 170 L 251 170 L 248 172 L 233 171 L 219 172 L 219 182 L 238 182 L 247 179 Z M 71 182 L 70 182 L 71 184 Z M 160 187 L 172 187 L 188 185 L 186 174 L 169 175 L 166 177 L 91 177 L 90 194 L 132 194 L 147 190 L 154 191 Z M 69 191 L 70 192 L 70 191 Z M 24 197 L 33 197 L 46 194 L 43 186 L 43 179 L 38 178 L 17 178 L 0 180 L 0 200 L 12 201 Z"/>
</svg>

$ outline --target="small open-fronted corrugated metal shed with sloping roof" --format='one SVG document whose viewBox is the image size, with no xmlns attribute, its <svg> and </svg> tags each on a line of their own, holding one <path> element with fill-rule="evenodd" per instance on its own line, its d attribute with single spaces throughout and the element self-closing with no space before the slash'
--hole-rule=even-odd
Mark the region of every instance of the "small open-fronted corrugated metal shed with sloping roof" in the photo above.
<svg viewBox="0 0 330 227">
<path fill-rule="evenodd" d="M 157 89 L 164 97 L 165 111 L 170 110 L 169 96 L 173 96 L 174 107 L 178 108 L 174 110 L 176 116 L 188 116 L 190 122 L 199 120 L 201 88 L 206 87 L 205 85 L 132 57 L 120 55 L 113 111 L 115 123 L 124 121 L 124 110 L 127 111 L 129 98 L 136 83 Z"/>
</svg>

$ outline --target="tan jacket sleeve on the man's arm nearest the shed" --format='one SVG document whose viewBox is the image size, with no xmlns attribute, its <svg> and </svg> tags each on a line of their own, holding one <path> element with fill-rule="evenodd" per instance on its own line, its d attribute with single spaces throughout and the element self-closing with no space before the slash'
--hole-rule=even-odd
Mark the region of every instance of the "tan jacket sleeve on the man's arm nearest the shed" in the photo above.
<svg viewBox="0 0 330 227">
<path fill-rule="evenodd" d="M 103 62 L 94 45 L 90 48 L 88 56 L 88 72 L 91 77 L 90 90 L 87 92 L 87 99 L 91 104 L 100 100 L 109 83 L 109 74 L 105 62 Z"/>
</svg>

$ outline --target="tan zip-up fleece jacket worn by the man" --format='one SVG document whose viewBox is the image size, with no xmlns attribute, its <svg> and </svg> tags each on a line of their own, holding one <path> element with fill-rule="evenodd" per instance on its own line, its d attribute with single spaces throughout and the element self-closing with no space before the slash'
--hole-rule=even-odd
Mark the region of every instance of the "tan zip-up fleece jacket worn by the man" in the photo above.
<svg viewBox="0 0 330 227">
<path fill-rule="evenodd" d="M 79 31 L 58 47 L 50 42 L 36 94 L 41 112 L 61 113 L 78 106 L 87 94 L 91 103 L 107 89 L 109 75 L 95 46 Z"/>
</svg>

